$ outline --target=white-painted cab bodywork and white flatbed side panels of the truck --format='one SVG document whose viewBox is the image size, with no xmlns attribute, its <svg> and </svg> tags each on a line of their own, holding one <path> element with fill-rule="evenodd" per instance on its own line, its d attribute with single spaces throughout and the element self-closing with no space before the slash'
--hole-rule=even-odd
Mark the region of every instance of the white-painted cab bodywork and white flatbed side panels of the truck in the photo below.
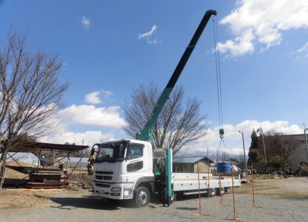
<svg viewBox="0 0 308 222">
<path fill-rule="evenodd" d="M 162 191 L 163 184 L 155 179 L 155 157 L 150 142 L 134 139 L 103 143 L 108 147 L 111 143 L 127 144 L 123 151 L 123 159 L 120 161 L 96 162 L 93 169 L 92 192 L 94 196 L 108 199 L 133 199 L 135 191 L 139 186 L 146 186 L 151 193 L 155 194 Z M 131 148 L 134 147 L 134 148 Z M 141 152 L 138 156 L 130 156 L 131 149 L 140 147 Z M 140 155 L 142 154 L 142 155 Z M 99 155 L 99 152 L 98 152 Z M 199 177 L 199 179 L 198 179 Z M 198 181 L 200 181 L 200 188 Z M 202 193 L 207 193 L 209 189 L 218 191 L 221 187 L 223 191 L 232 187 L 232 177 L 218 176 L 213 174 L 196 173 L 173 173 L 172 184 L 175 193 L 197 194 L 199 189 Z M 240 178 L 234 177 L 234 186 L 240 186 Z"/>
</svg>

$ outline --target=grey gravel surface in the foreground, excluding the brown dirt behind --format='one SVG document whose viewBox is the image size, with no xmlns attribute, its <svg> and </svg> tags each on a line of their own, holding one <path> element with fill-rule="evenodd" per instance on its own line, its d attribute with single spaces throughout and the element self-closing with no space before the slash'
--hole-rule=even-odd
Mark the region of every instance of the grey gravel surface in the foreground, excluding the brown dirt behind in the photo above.
<svg viewBox="0 0 308 222">
<path fill-rule="evenodd" d="M 39 196 L 39 195 L 37 195 Z M 25 208 L 0 209 L 0 221 L 225 221 L 234 218 L 232 194 L 202 198 L 202 212 L 210 216 L 194 216 L 199 212 L 199 199 L 183 198 L 170 207 L 150 203 L 134 208 L 131 201 L 108 201 L 85 194 L 52 194 L 43 201 Z M 252 208 L 250 194 L 235 194 L 235 206 L 240 221 L 307 221 L 308 196 L 281 197 L 257 195 Z M 228 217 L 228 215 L 230 216 Z"/>
</svg>

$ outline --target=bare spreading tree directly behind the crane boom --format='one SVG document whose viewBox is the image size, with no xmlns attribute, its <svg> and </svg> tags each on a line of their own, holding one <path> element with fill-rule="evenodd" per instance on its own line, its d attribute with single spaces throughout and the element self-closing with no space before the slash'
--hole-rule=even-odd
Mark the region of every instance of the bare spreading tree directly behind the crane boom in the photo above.
<svg viewBox="0 0 308 222">
<path fill-rule="evenodd" d="M 149 88 L 140 85 L 133 91 L 132 102 L 126 102 L 124 105 L 128 126 L 123 129 L 131 137 L 135 137 L 143 129 L 159 95 L 158 88 L 153 85 Z M 173 154 L 204 137 L 207 128 L 205 116 L 200 115 L 201 102 L 193 99 L 183 105 L 183 95 L 182 87 L 175 88 L 153 127 L 153 137 L 150 141 L 154 147 L 172 148 Z"/>
</svg>

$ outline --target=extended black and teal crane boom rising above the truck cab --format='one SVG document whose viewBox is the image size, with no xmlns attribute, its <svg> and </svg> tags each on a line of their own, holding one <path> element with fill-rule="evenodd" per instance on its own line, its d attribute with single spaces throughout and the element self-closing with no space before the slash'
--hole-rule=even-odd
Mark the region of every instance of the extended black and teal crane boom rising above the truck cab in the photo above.
<svg viewBox="0 0 308 222">
<path fill-rule="evenodd" d="M 205 15 L 203 16 L 199 26 L 197 27 L 197 30 L 195 31 L 193 38 L 188 44 L 188 47 L 183 53 L 182 58 L 180 58 L 180 61 L 177 67 L 175 68 L 173 75 L 171 76 L 168 84 L 166 85 L 165 90 L 163 90 L 163 93 L 160 95 L 158 102 L 156 103 L 148 122 L 145 124 L 145 127 L 143 127 L 143 130 L 140 132 L 140 135 L 138 137 L 139 140 L 148 141 L 152 137 L 153 126 L 155 125 L 155 122 L 158 119 L 158 116 L 160 115 L 161 110 L 163 110 L 163 107 L 165 106 L 165 102 L 167 102 L 175 86 L 175 83 L 178 81 L 180 74 L 182 73 L 188 59 L 190 58 L 191 53 L 193 53 L 195 45 L 197 44 L 197 41 L 202 34 L 202 31 L 207 25 L 207 22 L 209 21 L 210 16 L 212 15 L 216 16 L 216 14 L 217 12 L 215 10 L 208 10 L 205 12 Z"/>
</svg>

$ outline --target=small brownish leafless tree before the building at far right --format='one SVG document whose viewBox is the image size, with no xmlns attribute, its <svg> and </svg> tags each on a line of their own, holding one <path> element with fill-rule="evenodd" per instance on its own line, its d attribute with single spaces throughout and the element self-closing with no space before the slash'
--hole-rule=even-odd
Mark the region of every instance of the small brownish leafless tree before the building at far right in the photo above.
<svg viewBox="0 0 308 222">
<path fill-rule="evenodd" d="M 267 132 L 265 136 L 265 144 L 267 147 L 267 154 L 271 162 L 276 162 L 282 168 L 284 177 L 287 177 L 285 168 L 289 165 L 289 161 L 297 152 L 299 141 L 288 135 L 279 132 Z"/>
</svg>

